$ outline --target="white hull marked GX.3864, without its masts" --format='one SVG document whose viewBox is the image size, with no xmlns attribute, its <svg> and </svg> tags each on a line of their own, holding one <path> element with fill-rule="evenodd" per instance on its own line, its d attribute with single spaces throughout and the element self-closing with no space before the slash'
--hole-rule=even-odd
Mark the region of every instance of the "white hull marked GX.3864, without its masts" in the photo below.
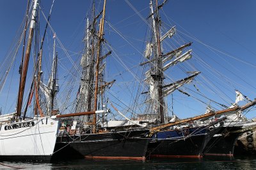
<svg viewBox="0 0 256 170">
<path fill-rule="evenodd" d="M 50 160 L 58 125 L 49 117 L 1 125 L 0 159 Z"/>
</svg>

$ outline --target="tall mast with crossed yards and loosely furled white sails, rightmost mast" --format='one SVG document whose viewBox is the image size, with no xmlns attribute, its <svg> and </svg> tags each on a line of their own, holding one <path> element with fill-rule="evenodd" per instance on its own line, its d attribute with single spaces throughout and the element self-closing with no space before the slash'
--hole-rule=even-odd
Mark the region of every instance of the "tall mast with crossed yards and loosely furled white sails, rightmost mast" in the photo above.
<svg viewBox="0 0 256 170">
<path fill-rule="evenodd" d="M 166 1 L 167 0 L 164 0 L 163 3 L 159 5 L 158 0 L 155 0 L 154 3 L 153 0 L 150 0 L 150 16 L 148 18 L 151 18 L 152 20 L 151 25 L 153 38 L 149 43 L 147 43 L 145 50 L 145 57 L 148 60 L 140 64 L 140 66 L 147 63 L 150 63 L 151 65 L 150 69 L 145 72 L 145 82 L 149 86 L 149 108 L 151 109 L 151 113 L 157 115 L 157 123 L 160 124 L 167 123 L 168 121 L 167 104 L 164 101 L 164 97 L 168 96 L 182 85 L 189 83 L 190 80 L 193 80 L 193 78 L 200 73 L 196 72 L 188 78 L 184 78 L 173 84 L 171 83 L 169 85 L 164 85 L 164 71 L 178 62 L 184 62 L 192 57 L 192 50 L 182 53 L 182 50 L 190 46 L 191 43 L 179 46 L 179 48 L 176 48 L 171 52 L 162 53 L 161 42 L 163 42 L 163 40 L 167 37 L 172 38 L 173 34 L 175 34 L 175 26 L 173 26 L 169 31 L 161 36 L 159 9 L 163 7 Z M 152 55 L 152 52 L 154 52 L 154 55 Z M 175 59 L 173 59 L 174 57 Z M 142 94 L 146 94 L 148 92 L 143 92 Z"/>
</svg>

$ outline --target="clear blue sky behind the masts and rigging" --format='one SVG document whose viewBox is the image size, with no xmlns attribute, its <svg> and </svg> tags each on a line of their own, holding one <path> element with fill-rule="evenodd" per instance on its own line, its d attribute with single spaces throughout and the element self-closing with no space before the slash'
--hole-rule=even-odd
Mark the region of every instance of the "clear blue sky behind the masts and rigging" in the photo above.
<svg viewBox="0 0 256 170">
<path fill-rule="evenodd" d="M 143 18 L 147 18 L 149 10 L 149 1 L 128 0 L 129 3 L 140 11 Z M 81 56 L 83 50 L 82 38 L 84 36 L 85 16 L 90 10 L 92 1 L 66 1 L 55 0 L 51 25 L 61 43 L 68 50 L 72 60 L 76 62 Z M 103 1 L 96 1 L 97 8 L 102 8 Z M 160 1 L 162 2 L 162 1 Z M 48 15 L 51 1 L 42 1 L 41 8 L 45 15 Z M 166 74 L 172 80 L 179 80 L 186 71 L 201 71 L 202 76 L 198 76 L 194 84 L 205 96 L 221 104 L 231 104 L 235 100 L 234 89 L 240 90 L 244 95 L 254 99 L 256 96 L 256 1 L 189 1 L 189 0 L 170 0 L 161 11 L 161 19 L 165 27 L 177 27 L 176 41 L 192 41 L 193 57 L 188 62 L 180 64 L 180 67 L 170 69 Z M 15 32 L 20 26 L 26 10 L 26 1 L 0 1 L 0 60 L 4 59 L 6 52 L 10 48 Z M 45 20 L 41 15 L 41 32 L 44 31 Z M 145 32 L 147 24 L 132 10 L 131 6 L 123 0 L 108 0 L 106 6 L 106 20 L 120 32 L 123 39 L 108 24 L 105 27 L 105 38 L 115 49 L 118 57 L 122 59 L 127 67 L 132 68 L 132 73 L 141 73 L 138 66 L 143 61 L 141 53 L 145 50 Z M 45 43 L 45 60 L 51 60 L 52 51 L 52 32 L 47 31 L 47 43 Z M 182 40 L 180 40 L 182 39 Z M 172 39 L 168 40 L 172 41 Z M 70 67 L 70 60 L 57 43 L 58 53 L 62 66 Z M 168 50 L 172 49 L 166 49 Z M 74 52 L 74 55 L 72 55 Z M 77 53 L 77 54 L 76 54 Z M 17 82 L 19 75 L 20 53 L 18 54 L 13 71 L 13 80 L 11 84 L 11 74 L 9 75 L 6 86 L 0 94 L 1 107 L 6 108 L 5 112 L 13 111 L 15 108 L 15 97 L 17 96 Z M 202 63 L 203 61 L 203 63 Z M 127 106 L 134 103 L 135 91 L 132 89 L 134 77 L 121 66 L 115 55 L 107 59 L 108 77 L 107 80 L 116 79 L 116 85 L 111 89 Z M 32 63 L 32 62 L 31 62 Z M 77 62 L 77 66 L 78 62 Z M 190 66 L 194 66 L 192 69 Z M 44 66 L 47 70 L 49 66 Z M 46 73 L 47 71 L 45 71 Z M 67 69 L 60 67 L 60 77 L 63 78 Z M 121 74 L 122 73 L 122 74 Z M 226 78 L 225 78 L 226 76 Z M 228 80 L 229 78 L 229 80 Z M 46 78 L 45 78 L 46 79 Z M 79 80 L 76 80 L 77 82 Z M 61 84 L 60 80 L 60 84 Z M 129 86 L 124 89 L 124 82 L 129 82 Z M 10 87 L 8 101 L 6 96 Z M 195 90 L 192 85 L 186 86 Z M 185 89 L 186 90 L 186 89 Z M 211 91 L 212 90 L 212 91 Z M 133 94 L 129 94 L 133 92 Z M 186 90 L 189 92 L 189 90 Z M 192 93 L 192 92 L 189 92 Z M 132 97 L 133 96 L 133 97 Z M 195 94 L 196 96 L 196 94 Z M 220 97 L 221 96 L 221 97 Z M 110 97 L 110 96 L 109 96 Z M 199 97 L 214 108 L 218 106 L 210 103 L 207 99 Z M 179 92 L 173 93 L 173 110 L 179 117 L 191 117 L 193 115 L 204 113 L 205 104 L 198 103 Z M 115 99 L 113 99 L 115 100 Z M 170 103 L 170 99 L 167 99 Z M 120 103 L 120 110 L 125 108 Z M 220 108 L 219 108 L 220 109 Z M 254 117 L 255 112 L 248 113 L 248 117 Z"/>
</svg>

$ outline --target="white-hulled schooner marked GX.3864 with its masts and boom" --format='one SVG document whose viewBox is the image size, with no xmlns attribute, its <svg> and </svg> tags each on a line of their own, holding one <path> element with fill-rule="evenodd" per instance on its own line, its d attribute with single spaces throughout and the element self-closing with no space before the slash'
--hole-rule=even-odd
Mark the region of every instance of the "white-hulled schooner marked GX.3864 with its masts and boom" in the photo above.
<svg viewBox="0 0 256 170">
<path fill-rule="evenodd" d="M 29 1 L 28 1 L 29 2 Z M 40 51 L 35 55 L 35 67 L 33 70 L 33 81 L 31 83 L 31 88 L 29 92 L 28 101 L 25 103 L 25 109 L 22 111 L 22 104 L 24 104 L 24 89 L 25 85 L 29 82 L 26 82 L 29 58 L 31 54 L 31 46 L 33 44 L 34 32 L 36 30 L 36 25 L 38 25 L 38 6 L 40 4 L 39 0 L 35 0 L 33 3 L 33 10 L 29 10 L 29 3 L 26 12 L 26 24 L 24 25 L 24 31 L 22 36 L 19 39 L 19 45 L 24 38 L 24 46 L 26 42 L 26 31 L 27 26 L 28 30 L 28 39 L 26 45 L 25 55 L 22 55 L 22 61 L 20 64 L 20 83 L 19 83 L 19 94 L 17 100 L 17 110 L 14 113 L 1 115 L 0 116 L 0 159 L 12 159 L 12 160 L 51 160 L 52 155 L 54 155 L 54 148 L 56 145 L 56 138 L 58 135 L 60 127 L 60 115 L 52 115 L 53 101 L 56 93 L 56 54 L 54 52 L 54 59 L 52 63 L 52 74 L 47 86 L 41 85 L 40 76 L 41 76 L 41 61 L 42 61 L 42 45 L 44 42 L 44 37 L 40 46 Z M 29 15 L 30 14 L 30 15 Z M 51 14 L 51 12 L 50 12 Z M 50 15 L 49 15 L 50 16 Z M 28 24 L 28 21 L 30 24 Z M 49 18 L 47 25 L 49 24 Z M 45 31 L 47 29 L 45 27 Z M 19 47 L 17 45 L 16 47 Z M 23 53 L 24 48 L 23 46 Z M 17 52 L 15 53 L 15 55 Z M 8 73 L 6 71 L 6 73 Z M 6 78 L 7 76 L 5 76 Z M 5 80 L 1 80 L 5 81 Z M 2 87 L 1 87 L 2 88 Z M 39 90 L 45 92 L 47 98 L 46 110 L 42 109 L 40 99 L 38 96 Z M 35 104 L 33 113 L 31 117 L 27 117 L 26 114 L 28 111 L 28 106 L 31 103 L 31 99 L 34 96 Z M 45 111 L 45 113 L 44 113 Z M 102 113 L 102 111 L 90 111 L 90 114 Z M 105 111 L 103 111 L 105 112 Z M 79 113 L 79 115 L 86 115 L 87 112 Z M 74 117 L 77 114 L 68 114 L 67 117 Z"/>
</svg>

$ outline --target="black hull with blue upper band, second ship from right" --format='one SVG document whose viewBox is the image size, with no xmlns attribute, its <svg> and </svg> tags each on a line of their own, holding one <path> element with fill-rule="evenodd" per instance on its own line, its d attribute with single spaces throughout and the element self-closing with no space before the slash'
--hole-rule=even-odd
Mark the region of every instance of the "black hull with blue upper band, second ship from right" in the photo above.
<svg viewBox="0 0 256 170">
<path fill-rule="evenodd" d="M 150 141 L 150 157 L 201 157 L 204 147 L 220 127 L 157 132 Z"/>
</svg>

